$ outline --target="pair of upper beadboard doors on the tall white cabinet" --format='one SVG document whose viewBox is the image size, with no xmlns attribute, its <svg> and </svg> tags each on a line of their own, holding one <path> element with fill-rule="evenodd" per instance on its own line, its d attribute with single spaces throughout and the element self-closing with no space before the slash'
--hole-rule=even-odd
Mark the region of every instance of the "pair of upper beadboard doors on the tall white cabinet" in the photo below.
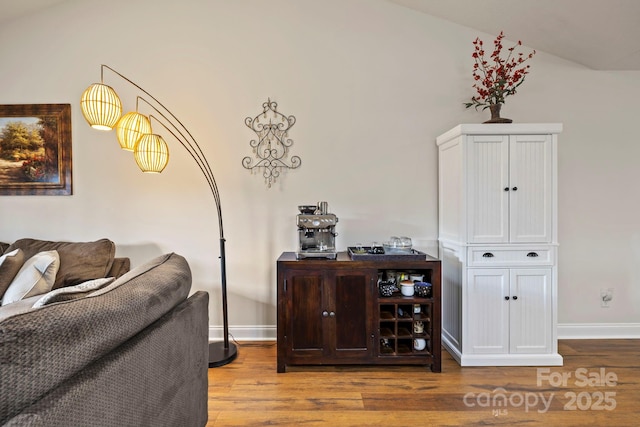
<svg viewBox="0 0 640 427">
<path fill-rule="evenodd" d="M 469 243 L 551 242 L 551 135 L 470 135 Z"/>
</svg>

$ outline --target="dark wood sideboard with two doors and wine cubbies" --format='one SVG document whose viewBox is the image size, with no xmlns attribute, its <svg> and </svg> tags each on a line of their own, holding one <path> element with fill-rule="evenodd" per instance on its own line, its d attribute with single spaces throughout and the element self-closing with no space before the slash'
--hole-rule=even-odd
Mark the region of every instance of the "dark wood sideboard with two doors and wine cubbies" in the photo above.
<svg viewBox="0 0 640 427">
<path fill-rule="evenodd" d="M 383 297 L 388 270 L 424 275 L 430 297 Z M 297 260 L 284 252 L 278 272 L 278 372 L 290 365 L 425 365 L 440 372 L 440 260 Z M 424 325 L 414 328 L 414 323 Z M 426 341 L 418 350 L 415 339 Z"/>
</svg>

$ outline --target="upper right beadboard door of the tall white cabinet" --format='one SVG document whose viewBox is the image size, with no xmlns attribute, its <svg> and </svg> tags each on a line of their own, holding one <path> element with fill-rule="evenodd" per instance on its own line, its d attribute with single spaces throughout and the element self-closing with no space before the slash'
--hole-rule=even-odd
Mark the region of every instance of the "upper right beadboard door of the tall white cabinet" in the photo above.
<svg viewBox="0 0 640 427">
<path fill-rule="evenodd" d="M 512 135 L 509 143 L 509 240 L 551 242 L 550 135 Z"/>
</svg>

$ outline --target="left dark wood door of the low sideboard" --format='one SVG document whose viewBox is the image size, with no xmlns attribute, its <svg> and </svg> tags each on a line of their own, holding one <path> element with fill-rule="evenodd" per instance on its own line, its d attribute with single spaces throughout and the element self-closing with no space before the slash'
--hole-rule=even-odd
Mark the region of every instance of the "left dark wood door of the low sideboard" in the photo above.
<svg viewBox="0 0 640 427">
<path fill-rule="evenodd" d="M 322 312 L 325 278 L 322 272 L 287 271 L 285 336 L 289 357 L 322 357 L 325 339 Z"/>
</svg>

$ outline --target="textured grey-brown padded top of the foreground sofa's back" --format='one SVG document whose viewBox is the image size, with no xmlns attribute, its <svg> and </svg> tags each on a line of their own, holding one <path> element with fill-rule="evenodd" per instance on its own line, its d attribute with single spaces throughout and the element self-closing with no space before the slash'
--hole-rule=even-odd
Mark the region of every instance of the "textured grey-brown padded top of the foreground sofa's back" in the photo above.
<svg viewBox="0 0 640 427">
<path fill-rule="evenodd" d="M 10 393 L 0 393 L 0 425 L 143 331 L 184 301 L 190 288 L 187 261 L 172 253 L 85 298 L 1 321 L 0 390 Z"/>
</svg>

